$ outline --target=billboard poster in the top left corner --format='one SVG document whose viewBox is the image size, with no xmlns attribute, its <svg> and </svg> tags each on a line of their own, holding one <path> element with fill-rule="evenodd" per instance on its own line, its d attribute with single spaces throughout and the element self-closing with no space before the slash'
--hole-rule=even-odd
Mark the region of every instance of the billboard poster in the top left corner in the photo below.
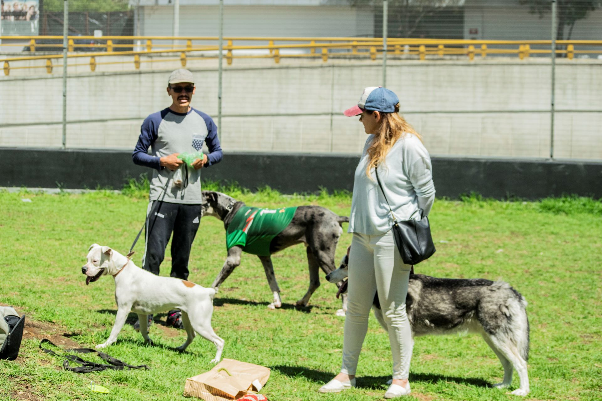
<svg viewBox="0 0 602 401">
<path fill-rule="evenodd" d="M 39 0 L 1 0 L 2 35 L 37 35 L 40 20 Z"/>
</svg>

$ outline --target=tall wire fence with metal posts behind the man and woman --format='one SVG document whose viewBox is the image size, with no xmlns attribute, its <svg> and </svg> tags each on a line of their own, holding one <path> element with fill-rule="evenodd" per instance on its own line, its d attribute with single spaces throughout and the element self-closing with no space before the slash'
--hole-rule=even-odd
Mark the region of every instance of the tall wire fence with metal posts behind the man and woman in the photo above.
<svg viewBox="0 0 602 401">
<path fill-rule="evenodd" d="M 432 155 L 602 159 L 602 1 L 0 8 L 0 147 L 133 148 L 185 66 L 226 152 L 359 153 L 365 133 L 342 112 L 382 85 Z"/>
</svg>

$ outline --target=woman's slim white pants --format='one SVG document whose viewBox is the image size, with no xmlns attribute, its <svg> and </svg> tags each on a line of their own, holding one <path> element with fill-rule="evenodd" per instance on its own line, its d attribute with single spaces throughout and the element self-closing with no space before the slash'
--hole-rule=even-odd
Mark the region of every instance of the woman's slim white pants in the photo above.
<svg viewBox="0 0 602 401">
<path fill-rule="evenodd" d="M 393 353 L 393 378 L 408 378 L 414 346 L 406 315 L 410 270 L 411 266 L 403 263 L 397 251 L 393 231 L 379 235 L 353 233 L 341 372 L 355 375 L 374 293 L 378 290 Z"/>
</svg>

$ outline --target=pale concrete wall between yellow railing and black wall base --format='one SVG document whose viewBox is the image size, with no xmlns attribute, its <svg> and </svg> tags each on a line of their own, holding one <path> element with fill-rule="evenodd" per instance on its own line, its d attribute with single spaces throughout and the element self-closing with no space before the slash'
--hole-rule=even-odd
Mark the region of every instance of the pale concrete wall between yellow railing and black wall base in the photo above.
<svg viewBox="0 0 602 401">
<path fill-rule="evenodd" d="M 214 61 L 203 63 L 189 66 L 197 81 L 193 106 L 217 122 L 217 70 Z M 602 159 L 601 65 L 557 63 L 557 158 Z M 67 147 L 133 148 L 144 117 L 169 106 L 166 79 L 176 67 L 167 61 L 143 64 L 139 72 L 73 67 L 82 72 L 69 78 Z M 370 61 L 235 60 L 223 76 L 223 148 L 358 153 L 362 125 L 341 113 L 380 79 L 380 64 Z M 393 60 L 387 82 L 433 155 L 549 155 L 550 66 L 544 60 Z M 11 72 L 0 78 L 0 88 L 0 146 L 60 147 L 60 75 Z"/>
</svg>

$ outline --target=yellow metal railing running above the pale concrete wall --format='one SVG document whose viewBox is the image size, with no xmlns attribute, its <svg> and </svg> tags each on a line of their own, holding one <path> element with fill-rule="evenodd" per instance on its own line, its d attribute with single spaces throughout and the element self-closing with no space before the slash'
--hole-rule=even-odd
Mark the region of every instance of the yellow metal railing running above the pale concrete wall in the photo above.
<svg viewBox="0 0 602 401">
<path fill-rule="evenodd" d="M 5 36 L 2 40 L 10 40 L 13 43 L 2 43 L 2 46 L 23 47 L 24 43 L 32 52 L 44 51 L 45 49 L 57 47 L 62 48 L 62 36 Z M 48 43 L 48 40 L 56 40 L 56 43 Z M 93 41 L 93 43 L 81 43 L 81 41 Z M 141 63 L 157 60 L 144 60 L 144 55 L 166 55 L 160 61 L 179 61 L 186 66 L 189 60 L 201 60 L 216 58 L 217 37 L 171 37 L 171 36 L 69 36 L 67 37 L 68 58 L 90 58 L 87 64 L 69 64 L 69 66 L 89 65 L 91 71 L 96 66 L 103 64 L 132 63 L 135 69 L 140 69 Z M 15 41 L 20 43 L 14 43 Z M 126 41 L 127 43 L 120 43 Z M 376 60 L 383 52 L 382 38 L 355 38 L 355 37 L 225 37 L 225 59 L 228 65 L 232 64 L 234 58 L 272 58 L 279 63 L 282 58 L 321 58 L 326 62 L 330 57 L 365 57 Z M 235 45 L 234 42 L 246 44 Z M 279 43 L 276 43 L 279 42 Z M 247 44 L 253 43 L 253 44 Z M 564 54 L 568 60 L 573 60 L 578 54 L 602 54 L 602 40 L 558 40 L 557 45 L 565 49 L 557 49 L 556 54 Z M 594 49 L 576 50 L 574 46 L 598 46 Z M 540 48 L 532 48 L 537 46 Z M 547 47 L 546 47 L 547 46 Z M 549 40 L 438 40 L 438 39 L 415 39 L 415 38 L 388 38 L 387 54 L 395 57 L 405 55 L 417 55 L 418 60 L 430 58 L 443 58 L 446 55 L 456 57 L 468 57 L 473 61 L 475 57 L 485 58 L 487 55 L 517 56 L 524 60 L 533 54 L 551 53 L 551 42 Z M 116 51 L 119 48 L 119 51 Z M 84 51 L 81 51 L 84 49 Z M 90 52 L 85 50 L 90 49 Z M 102 51 L 94 51 L 102 49 Z M 126 49 L 126 50 L 122 50 Z M 76 52 L 76 50 L 79 50 Z M 259 51 L 259 54 L 257 54 Z M 262 51 L 262 52 L 261 52 Z M 282 52 L 287 51 L 287 52 Z M 203 55 L 203 53 L 205 53 Z M 207 54 L 208 53 L 208 54 Z M 178 58 L 169 58 L 169 55 L 178 55 Z M 110 56 L 131 56 L 131 61 L 99 61 L 110 60 Z M 9 75 L 10 70 L 46 68 L 52 73 L 54 67 L 61 64 L 53 64 L 53 60 L 63 58 L 62 54 L 31 55 L 19 57 L 7 57 L 0 59 L 4 67 L 4 75 Z M 45 64 L 21 66 L 23 61 L 45 60 Z M 17 63 L 17 66 L 11 64 Z"/>
</svg>

